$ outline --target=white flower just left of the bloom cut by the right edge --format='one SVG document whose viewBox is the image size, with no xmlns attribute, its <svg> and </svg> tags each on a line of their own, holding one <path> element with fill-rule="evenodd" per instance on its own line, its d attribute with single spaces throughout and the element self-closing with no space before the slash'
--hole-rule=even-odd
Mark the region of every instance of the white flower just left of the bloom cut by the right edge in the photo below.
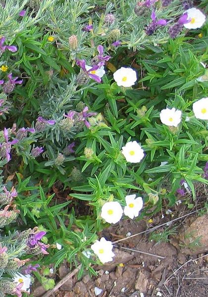
<svg viewBox="0 0 208 297">
<path fill-rule="evenodd" d="M 181 122 L 181 111 L 176 110 L 174 107 L 172 109 L 162 109 L 159 117 L 162 124 L 177 127 Z"/>
</svg>

